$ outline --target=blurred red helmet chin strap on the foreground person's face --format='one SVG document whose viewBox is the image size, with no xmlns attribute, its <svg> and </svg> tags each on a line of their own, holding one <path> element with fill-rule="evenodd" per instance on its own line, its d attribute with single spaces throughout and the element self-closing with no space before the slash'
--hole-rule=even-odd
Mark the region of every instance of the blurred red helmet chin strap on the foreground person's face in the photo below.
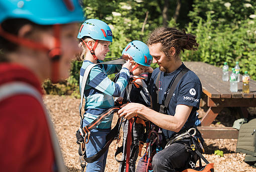
<svg viewBox="0 0 256 172">
<path fill-rule="evenodd" d="M 43 51 L 43 52 L 48 52 L 48 56 L 52 61 L 51 62 L 51 68 L 52 68 L 51 80 L 53 83 L 57 83 L 59 80 L 59 59 L 61 56 L 60 25 L 59 24 L 53 25 L 53 30 L 54 30 L 55 45 L 54 45 L 54 48 L 50 49 L 43 43 L 36 42 L 23 37 L 18 37 L 17 35 L 11 34 L 5 31 L 0 24 L 0 35 L 5 39 L 22 46 L 26 46 L 32 49 Z"/>
</svg>

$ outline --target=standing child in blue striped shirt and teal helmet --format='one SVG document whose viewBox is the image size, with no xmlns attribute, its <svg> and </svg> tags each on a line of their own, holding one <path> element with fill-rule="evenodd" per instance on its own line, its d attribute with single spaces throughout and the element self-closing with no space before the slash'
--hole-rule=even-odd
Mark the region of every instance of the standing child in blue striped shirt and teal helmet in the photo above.
<svg viewBox="0 0 256 172">
<path fill-rule="evenodd" d="M 88 19 L 81 25 L 78 36 L 83 52 L 80 59 L 83 64 L 80 70 L 80 89 L 85 69 L 93 63 L 104 60 L 109 51 L 109 44 L 112 42 L 112 31 L 109 26 L 98 19 Z M 85 113 L 82 119 L 82 127 L 91 123 L 101 113 L 114 106 L 113 96 L 120 96 L 121 91 L 126 87 L 132 64 L 129 56 L 123 55 L 127 62 L 120 64 L 99 64 L 92 67 L 89 72 L 84 88 Z M 120 77 L 114 83 L 107 75 L 120 71 Z M 82 90 L 80 90 L 82 91 Z M 103 148 L 106 135 L 110 132 L 113 114 L 106 117 L 96 128 L 90 132 L 89 142 L 86 143 L 86 156 L 90 157 Z M 86 171 L 104 171 L 107 151 L 92 163 L 87 163 Z"/>
</svg>

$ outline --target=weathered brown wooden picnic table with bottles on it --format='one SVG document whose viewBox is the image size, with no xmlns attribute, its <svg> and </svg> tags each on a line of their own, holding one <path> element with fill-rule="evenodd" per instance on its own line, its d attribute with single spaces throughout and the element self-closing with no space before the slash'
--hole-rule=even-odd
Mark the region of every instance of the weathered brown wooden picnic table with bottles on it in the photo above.
<svg viewBox="0 0 256 172">
<path fill-rule="evenodd" d="M 224 107 L 238 107 L 244 117 L 248 117 L 247 107 L 256 106 L 256 81 L 250 79 L 250 93 L 243 93 L 240 75 L 238 91 L 231 92 L 229 81 L 222 81 L 222 69 L 220 67 L 201 61 L 185 61 L 184 64 L 200 78 L 203 93 L 207 97 L 206 101 L 209 108 L 201 119 L 202 127 L 199 127 L 201 131 L 205 131 L 204 138 L 237 138 L 238 131 L 232 127 L 216 128 L 209 127 L 209 125 Z"/>
</svg>

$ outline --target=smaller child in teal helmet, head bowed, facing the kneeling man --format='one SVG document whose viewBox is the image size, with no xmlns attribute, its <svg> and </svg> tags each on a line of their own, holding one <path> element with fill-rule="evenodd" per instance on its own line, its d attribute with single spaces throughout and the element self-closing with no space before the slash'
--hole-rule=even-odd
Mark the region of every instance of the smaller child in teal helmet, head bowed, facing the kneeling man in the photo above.
<svg viewBox="0 0 256 172">
<path fill-rule="evenodd" d="M 153 72 L 153 68 L 150 67 L 152 56 L 149 53 L 149 47 L 142 41 L 134 40 L 126 45 L 123 49 L 122 54 L 129 54 L 132 56 L 133 60 L 133 78 L 130 84 L 126 87 L 125 91 L 122 93 L 123 98 L 129 99 L 131 102 L 137 102 L 150 106 L 150 97 L 147 90 L 147 83 L 144 81 L 140 75 L 143 72 Z M 120 100 L 121 98 L 119 98 Z M 125 145 L 125 140 L 128 130 L 128 120 L 124 121 L 123 124 L 123 145 Z M 133 139 L 130 149 L 130 165 L 129 171 L 135 172 L 136 160 L 138 158 L 139 149 L 143 146 L 143 134 L 145 132 L 146 123 L 143 119 L 137 117 L 136 121 L 133 123 Z M 140 148 L 139 148 L 140 147 Z M 125 146 L 123 146 L 124 152 Z M 136 150 L 135 150 L 136 149 Z M 133 153 L 132 153 L 133 151 Z M 141 150 L 140 150 L 141 151 Z M 141 152 L 140 152 L 141 153 Z M 131 156 L 132 154 L 132 156 Z M 123 154 L 122 157 L 125 155 Z M 121 170 L 122 163 L 119 165 L 118 171 Z M 124 165 L 125 169 L 125 165 Z"/>
</svg>

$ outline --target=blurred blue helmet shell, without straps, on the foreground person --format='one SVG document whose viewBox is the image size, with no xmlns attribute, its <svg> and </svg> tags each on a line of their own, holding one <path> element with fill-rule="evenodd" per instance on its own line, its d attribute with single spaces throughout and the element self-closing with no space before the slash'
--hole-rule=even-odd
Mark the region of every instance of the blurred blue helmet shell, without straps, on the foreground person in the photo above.
<svg viewBox="0 0 256 172">
<path fill-rule="evenodd" d="M 78 0 L 0 0 L 0 23 L 9 18 L 25 18 L 40 25 L 85 19 Z"/>
</svg>

